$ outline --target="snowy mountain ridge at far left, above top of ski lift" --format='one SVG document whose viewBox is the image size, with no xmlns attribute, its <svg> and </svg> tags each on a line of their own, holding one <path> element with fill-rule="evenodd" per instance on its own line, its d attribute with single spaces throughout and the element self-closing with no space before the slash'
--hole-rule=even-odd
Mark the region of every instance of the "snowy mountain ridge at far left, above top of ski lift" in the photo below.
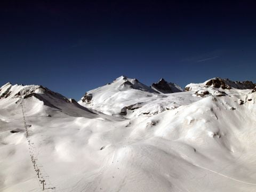
<svg viewBox="0 0 256 192">
<path fill-rule="evenodd" d="M 74 99 L 67 99 L 63 95 L 53 92 L 41 85 L 12 85 L 6 83 L 0 88 L 0 101 L 3 108 L 16 107 L 22 100 L 31 104 L 33 113 L 63 112 L 70 116 L 83 116 L 84 111 L 91 116 L 92 111 L 79 105 Z"/>
</svg>

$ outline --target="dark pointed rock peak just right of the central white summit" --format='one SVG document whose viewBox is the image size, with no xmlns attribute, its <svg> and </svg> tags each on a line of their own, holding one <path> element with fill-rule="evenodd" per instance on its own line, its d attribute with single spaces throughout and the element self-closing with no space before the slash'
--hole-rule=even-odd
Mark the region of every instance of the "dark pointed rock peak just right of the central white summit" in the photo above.
<svg viewBox="0 0 256 192">
<path fill-rule="evenodd" d="M 153 83 L 151 87 L 161 93 L 182 92 L 182 89 L 178 89 L 177 85 L 175 85 L 174 83 L 168 83 L 163 78 L 160 79 L 158 83 Z"/>
</svg>

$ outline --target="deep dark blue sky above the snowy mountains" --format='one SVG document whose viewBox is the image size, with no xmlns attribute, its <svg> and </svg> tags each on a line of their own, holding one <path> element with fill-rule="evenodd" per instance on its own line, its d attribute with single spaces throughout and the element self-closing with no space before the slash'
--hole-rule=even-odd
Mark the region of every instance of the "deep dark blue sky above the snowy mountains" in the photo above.
<svg viewBox="0 0 256 192">
<path fill-rule="evenodd" d="M 53 3 L 54 2 L 54 3 Z M 0 84 L 79 99 L 125 75 L 256 82 L 253 1 L 1 1 Z"/>
</svg>

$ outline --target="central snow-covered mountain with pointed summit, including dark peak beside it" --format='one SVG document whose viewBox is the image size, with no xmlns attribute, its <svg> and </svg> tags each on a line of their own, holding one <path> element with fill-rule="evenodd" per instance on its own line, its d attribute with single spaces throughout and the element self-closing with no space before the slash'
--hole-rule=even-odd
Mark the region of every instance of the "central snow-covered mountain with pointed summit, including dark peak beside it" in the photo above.
<svg viewBox="0 0 256 192">
<path fill-rule="evenodd" d="M 125 117 L 157 114 L 182 105 L 183 100 L 180 102 L 177 97 L 173 98 L 174 95 L 159 94 L 164 89 L 165 92 L 182 91 L 178 85 L 167 83 L 164 79 L 149 87 L 137 79 L 121 76 L 112 83 L 86 92 L 78 103 L 107 115 Z"/>
</svg>

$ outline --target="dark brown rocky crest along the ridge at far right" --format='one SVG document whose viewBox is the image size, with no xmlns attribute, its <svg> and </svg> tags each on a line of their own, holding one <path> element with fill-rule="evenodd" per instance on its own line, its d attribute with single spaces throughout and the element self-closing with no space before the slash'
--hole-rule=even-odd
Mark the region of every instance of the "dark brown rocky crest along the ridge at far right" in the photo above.
<svg viewBox="0 0 256 192">
<path fill-rule="evenodd" d="M 229 79 L 222 79 L 222 78 L 213 78 L 206 82 L 205 85 L 213 86 L 215 88 L 221 88 L 221 89 L 228 89 L 230 90 L 232 87 L 235 89 L 254 89 L 255 84 L 251 81 L 244 81 L 244 82 L 233 82 Z"/>
</svg>

